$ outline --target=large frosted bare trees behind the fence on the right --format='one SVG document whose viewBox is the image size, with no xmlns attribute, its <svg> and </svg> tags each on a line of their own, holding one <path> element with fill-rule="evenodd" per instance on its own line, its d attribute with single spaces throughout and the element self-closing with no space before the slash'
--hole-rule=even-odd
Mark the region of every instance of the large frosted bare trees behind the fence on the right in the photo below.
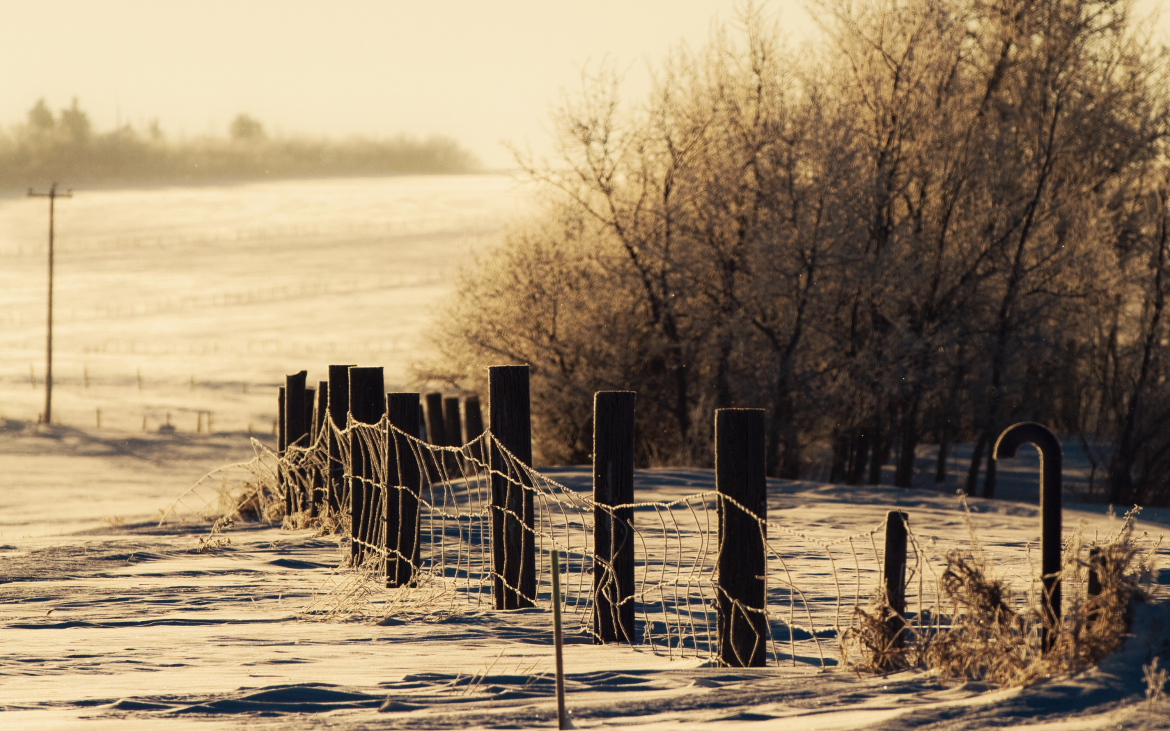
<svg viewBox="0 0 1170 731">
<path fill-rule="evenodd" d="M 631 388 L 642 463 L 710 464 L 713 411 L 763 407 L 771 475 L 897 455 L 909 485 L 918 444 L 973 442 L 975 495 L 1035 420 L 1100 497 L 1170 503 L 1163 50 L 1123 0 L 815 9 L 818 46 L 749 8 L 634 104 L 586 77 L 559 158 L 521 157 L 545 213 L 464 273 L 419 375 L 531 364 L 546 462 Z"/>
</svg>

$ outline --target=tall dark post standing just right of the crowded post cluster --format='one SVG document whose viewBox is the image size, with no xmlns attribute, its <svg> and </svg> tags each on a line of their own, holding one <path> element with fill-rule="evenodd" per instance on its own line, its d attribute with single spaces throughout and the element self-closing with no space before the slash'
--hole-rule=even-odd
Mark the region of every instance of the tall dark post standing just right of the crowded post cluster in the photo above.
<svg viewBox="0 0 1170 731">
<path fill-rule="evenodd" d="M 528 366 L 488 368 L 488 416 L 498 443 L 524 466 L 532 466 Z M 536 604 L 536 533 L 528 475 L 498 448 L 491 449 L 491 570 L 497 609 Z M 500 473 L 500 474 L 496 474 Z M 507 511 L 507 512 L 505 512 Z"/>
</svg>

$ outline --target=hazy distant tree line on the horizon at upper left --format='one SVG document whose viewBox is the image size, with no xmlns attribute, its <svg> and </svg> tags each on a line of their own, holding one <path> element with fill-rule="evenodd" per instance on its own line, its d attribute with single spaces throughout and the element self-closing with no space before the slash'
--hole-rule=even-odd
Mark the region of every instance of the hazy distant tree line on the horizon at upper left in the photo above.
<svg viewBox="0 0 1170 731">
<path fill-rule="evenodd" d="M 344 140 L 269 137 L 239 115 L 227 137 L 167 139 L 151 122 L 95 132 L 73 105 L 54 115 L 40 99 L 23 124 L 0 131 L 0 188 L 126 185 L 391 173 L 460 173 L 475 157 L 445 137 Z"/>
</svg>

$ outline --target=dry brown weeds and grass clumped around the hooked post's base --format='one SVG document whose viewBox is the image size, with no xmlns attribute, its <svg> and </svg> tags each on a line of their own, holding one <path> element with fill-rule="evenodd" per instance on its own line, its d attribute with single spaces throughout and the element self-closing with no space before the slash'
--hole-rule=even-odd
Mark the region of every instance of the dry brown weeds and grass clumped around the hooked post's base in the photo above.
<svg viewBox="0 0 1170 731">
<path fill-rule="evenodd" d="M 942 594 L 951 605 L 949 627 L 906 632 L 906 647 L 894 647 L 892 615 L 885 596 L 866 612 L 855 611 L 854 623 L 841 635 L 841 655 L 859 671 L 886 673 L 921 667 L 943 680 L 978 680 L 996 685 L 1027 685 L 1039 678 L 1074 674 L 1095 664 L 1121 644 L 1129 629 L 1130 605 L 1144 601 L 1142 588 L 1152 572 L 1154 552 L 1134 537 L 1137 510 L 1126 515 L 1119 533 L 1099 546 L 1092 559 L 1080 532 L 1065 551 L 1061 582 L 1065 613 L 1047 620 L 1039 596 L 1017 595 L 996 578 L 972 531 L 971 551 L 951 551 L 942 574 Z M 1100 593 L 1075 596 L 1071 591 L 1092 568 Z M 1047 633 L 1052 644 L 1044 649 Z"/>
</svg>

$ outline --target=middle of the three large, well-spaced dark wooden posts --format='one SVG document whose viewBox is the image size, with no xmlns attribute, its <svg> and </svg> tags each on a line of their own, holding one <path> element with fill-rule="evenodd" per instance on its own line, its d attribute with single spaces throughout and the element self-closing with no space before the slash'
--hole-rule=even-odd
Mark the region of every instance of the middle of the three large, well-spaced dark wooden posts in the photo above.
<svg viewBox="0 0 1170 731">
<path fill-rule="evenodd" d="M 612 506 L 634 502 L 635 399 L 633 391 L 593 394 L 593 608 L 599 644 L 634 642 L 634 509 Z"/>
</svg>

